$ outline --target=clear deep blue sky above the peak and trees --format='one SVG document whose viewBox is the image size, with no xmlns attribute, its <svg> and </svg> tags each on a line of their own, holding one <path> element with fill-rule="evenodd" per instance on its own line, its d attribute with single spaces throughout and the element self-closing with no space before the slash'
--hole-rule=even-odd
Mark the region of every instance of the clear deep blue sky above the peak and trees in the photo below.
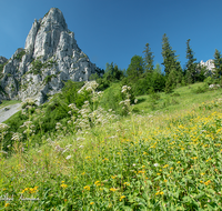
<svg viewBox="0 0 222 211">
<path fill-rule="evenodd" d="M 161 63 L 162 36 L 184 67 L 185 42 L 198 61 L 222 51 L 221 0 L 7 0 L 0 7 L 0 56 L 24 48 L 34 19 L 59 8 L 78 46 L 99 68 L 113 62 L 127 69 L 134 54 L 150 43 L 154 63 Z"/>
</svg>

